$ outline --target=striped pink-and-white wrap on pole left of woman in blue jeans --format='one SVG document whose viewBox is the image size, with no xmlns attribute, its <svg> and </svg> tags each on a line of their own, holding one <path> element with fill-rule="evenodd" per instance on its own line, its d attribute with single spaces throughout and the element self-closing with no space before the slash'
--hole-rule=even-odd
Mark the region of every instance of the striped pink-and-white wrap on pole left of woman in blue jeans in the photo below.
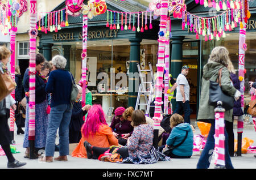
<svg viewBox="0 0 256 180">
<path fill-rule="evenodd" d="M 30 108 L 28 140 L 35 140 L 35 74 L 36 74 L 36 0 L 30 1 Z"/>
</svg>

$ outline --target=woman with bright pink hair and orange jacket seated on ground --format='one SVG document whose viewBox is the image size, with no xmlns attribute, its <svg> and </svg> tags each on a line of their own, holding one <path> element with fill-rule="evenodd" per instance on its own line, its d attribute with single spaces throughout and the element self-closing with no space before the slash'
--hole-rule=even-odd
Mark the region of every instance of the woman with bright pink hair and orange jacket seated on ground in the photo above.
<svg viewBox="0 0 256 180">
<path fill-rule="evenodd" d="M 118 145 L 118 140 L 112 132 L 112 128 L 106 123 L 105 114 L 101 105 L 93 105 L 89 111 L 84 125 L 81 128 L 82 138 L 72 152 L 73 157 L 86 158 L 84 142 L 87 141 L 97 147 L 110 147 Z"/>
</svg>

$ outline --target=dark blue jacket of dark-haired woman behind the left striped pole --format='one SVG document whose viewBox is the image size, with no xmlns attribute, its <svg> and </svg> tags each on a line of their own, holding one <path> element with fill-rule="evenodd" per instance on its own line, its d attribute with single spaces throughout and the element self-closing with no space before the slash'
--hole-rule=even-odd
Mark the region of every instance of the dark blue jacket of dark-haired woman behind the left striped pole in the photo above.
<svg viewBox="0 0 256 180">
<path fill-rule="evenodd" d="M 27 68 L 23 78 L 23 87 L 25 92 L 30 91 L 30 76 L 28 75 L 29 71 L 29 68 Z M 35 76 L 35 103 L 39 104 L 46 100 L 46 83 L 44 83 L 44 80 L 40 78 L 38 75 Z M 28 103 L 28 97 L 26 98 Z"/>
</svg>

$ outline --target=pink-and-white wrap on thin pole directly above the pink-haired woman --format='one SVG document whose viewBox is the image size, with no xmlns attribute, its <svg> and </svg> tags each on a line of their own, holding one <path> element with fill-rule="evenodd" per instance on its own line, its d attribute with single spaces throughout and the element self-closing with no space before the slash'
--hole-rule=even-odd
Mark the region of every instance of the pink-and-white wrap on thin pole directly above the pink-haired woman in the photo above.
<svg viewBox="0 0 256 180">
<path fill-rule="evenodd" d="M 86 61 L 87 61 L 87 31 L 88 31 L 88 16 L 82 16 L 82 102 L 85 103 L 86 97 Z"/>
</svg>

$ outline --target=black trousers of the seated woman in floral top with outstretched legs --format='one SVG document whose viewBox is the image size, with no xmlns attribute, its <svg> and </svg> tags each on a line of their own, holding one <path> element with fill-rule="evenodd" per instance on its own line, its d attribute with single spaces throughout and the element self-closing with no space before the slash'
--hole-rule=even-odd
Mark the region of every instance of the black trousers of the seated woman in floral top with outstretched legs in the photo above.
<svg viewBox="0 0 256 180">
<path fill-rule="evenodd" d="M 101 147 L 92 147 L 93 151 L 93 158 L 97 159 L 100 155 L 102 155 L 105 151 L 107 151 L 109 148 L 101 148 Z M 129 152 L 127 147 L 121 147 L 117 150 L 117 153 L 121 155 L 123 159 L 126 157 L 129 157 Z"/>
</svg>

